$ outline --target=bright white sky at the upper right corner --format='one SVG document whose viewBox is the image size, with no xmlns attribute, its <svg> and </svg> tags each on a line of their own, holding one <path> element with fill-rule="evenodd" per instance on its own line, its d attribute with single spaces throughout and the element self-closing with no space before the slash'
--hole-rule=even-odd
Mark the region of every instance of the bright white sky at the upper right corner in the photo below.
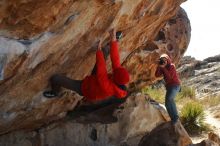
<svg viewBox="0 0 220 146">
<path fill-rule="evenodd" d="M 220 0 L 187 0 L 181 5 L 191 23 L 185 56 L 198 60 L 220 54 Z"/>
</svg>

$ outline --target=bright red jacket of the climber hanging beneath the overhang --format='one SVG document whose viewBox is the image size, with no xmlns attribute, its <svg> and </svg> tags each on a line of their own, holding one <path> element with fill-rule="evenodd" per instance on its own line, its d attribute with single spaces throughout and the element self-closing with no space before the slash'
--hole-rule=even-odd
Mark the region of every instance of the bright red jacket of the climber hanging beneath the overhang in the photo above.
<svg viewBox="0 0 220 146">
<path fill-rule="evenodd" d="M 121 67 L 117 41 L 111 42 L 110 57 L 113 70 Z M 114 82 L 112 74 L 107 73 L 106 63 L 101 50 L 96 52 L 96 74 L 87 76 L 82 82 L 82 93 L 89 101 L 99 101 L 110 96 L 124 98 L 127 92 Z"/>
</svg>

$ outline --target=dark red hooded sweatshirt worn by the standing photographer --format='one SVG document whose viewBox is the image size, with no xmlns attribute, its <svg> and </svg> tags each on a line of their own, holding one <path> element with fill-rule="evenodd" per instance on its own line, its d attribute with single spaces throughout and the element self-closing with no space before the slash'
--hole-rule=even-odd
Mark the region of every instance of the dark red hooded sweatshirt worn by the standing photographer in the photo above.
<svg viewBox="0 0 220 146">
<path fill-rule="evenodd" d="M 173 85 L 180 85 L 179 76 L 176 72 L 175 65 L 171 63 L 171 59 L 167 54 L 163 54 L 160 58 L 167 59 L 167 65 L 165 67 L 157 67 L 155 76 L 160 77 L 161 75 L 164 76 L 164 80 L 166 82 L 166 87 L 170 87 Z"/>
</svg>

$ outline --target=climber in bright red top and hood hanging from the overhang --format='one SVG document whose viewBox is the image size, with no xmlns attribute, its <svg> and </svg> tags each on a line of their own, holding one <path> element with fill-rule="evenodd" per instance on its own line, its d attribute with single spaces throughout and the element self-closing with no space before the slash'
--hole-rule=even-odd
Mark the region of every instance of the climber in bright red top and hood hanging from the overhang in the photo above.
<svg viewBox="0 0 220 146">
<path fill-rule="evenodd" d="M 59 74 L 53 75 L 50 79 L 51 90 L 45 91 L 43 95 L 48 98 L 57 97 L 60 88 L 64 87 L 84 96 L 90 102 L 102 101 L 111 96 L 124 98 L 127 95 L 124 85 L 129 82 L 129 73 L 120 64 L 118 42 L 114 29 L 110 31 L 110 36 L 112 74 L 107 73 L 104 54 L 101 50 L 101 43 L 99 43 L 96 52 L 96 64 L 91 75 L 83 80 L 73 80 Z"/>
</svg>

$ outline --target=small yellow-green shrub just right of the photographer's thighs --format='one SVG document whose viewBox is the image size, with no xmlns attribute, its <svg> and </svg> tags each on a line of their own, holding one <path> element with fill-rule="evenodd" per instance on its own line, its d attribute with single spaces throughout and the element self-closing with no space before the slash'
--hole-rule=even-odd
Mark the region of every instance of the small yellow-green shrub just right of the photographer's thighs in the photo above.
<svg viewBox="0 0 220 146">
<path fill-rule="evenodd" d="M 181 87 L 181 92 L 178 95 L 178 98 L 191 98 L 195 99 L 196 97 L 196 91 L 195 88 L 193 87 L 188 87 L 188 86 L 182 86 Z"/>
</svg>

